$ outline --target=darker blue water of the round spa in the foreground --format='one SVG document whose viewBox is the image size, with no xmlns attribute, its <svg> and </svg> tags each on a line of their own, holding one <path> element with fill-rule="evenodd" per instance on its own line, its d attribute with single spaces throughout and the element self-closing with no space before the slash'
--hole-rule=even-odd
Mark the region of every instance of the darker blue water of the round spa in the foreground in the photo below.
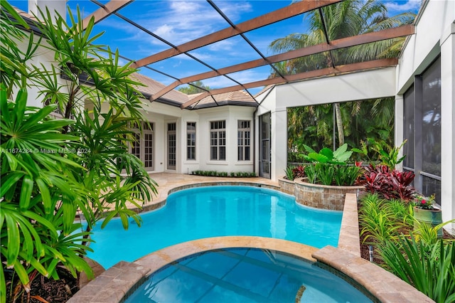
<svg viewBox="0 0 455 303">
<path fill-rule="evenodd" d="M 345 280 L 274 250 L 229 248 L 183 258 L 127 297 L 146 302 L 372 302 Z"/>
</svg>

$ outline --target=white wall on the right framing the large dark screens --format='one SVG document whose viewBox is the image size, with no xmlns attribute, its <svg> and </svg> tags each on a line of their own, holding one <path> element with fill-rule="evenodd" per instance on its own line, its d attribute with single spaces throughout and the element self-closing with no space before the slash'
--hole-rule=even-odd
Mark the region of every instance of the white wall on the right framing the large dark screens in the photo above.
<svg viewBox="0 0 455 303">
<path fill-rule="evenodd" d="M 397 67 L 397 100 L 439 55 L 441 57 L 441 208 L 444 222 L 455 218 L 455 1 L 431 0 L 416 23 Z M 403 128 L 397 102 L 395 129 Z M 403 134 L 397 133 L 400 144 Z M 417 171 L 416 174 L 419 174 Z M 450 230 L 455 224 L 446 225 Z"/>
</svg>

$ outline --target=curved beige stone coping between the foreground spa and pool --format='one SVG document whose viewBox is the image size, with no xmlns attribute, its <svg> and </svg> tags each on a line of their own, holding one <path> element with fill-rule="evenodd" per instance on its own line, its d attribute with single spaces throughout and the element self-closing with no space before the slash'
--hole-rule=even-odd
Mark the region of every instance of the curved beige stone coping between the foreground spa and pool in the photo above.
<svg viewBox="0 0 455 303">
<path fill-rule="evenodd" d="M 218 248 L 279 250 L 310 262 L 321 262 L 342 272 L 373 294 L 378 302 L 434 302 L 411 285 L 352 253 L 326 246 L 318 249 L 289 240 L 225 236 L 188 241 L 163 248 L 134 262 L 119 262 L 80 289 L 69 303 L 117 303 L 131 294 L 151 273 L 197 252 Z"/>
</svg>

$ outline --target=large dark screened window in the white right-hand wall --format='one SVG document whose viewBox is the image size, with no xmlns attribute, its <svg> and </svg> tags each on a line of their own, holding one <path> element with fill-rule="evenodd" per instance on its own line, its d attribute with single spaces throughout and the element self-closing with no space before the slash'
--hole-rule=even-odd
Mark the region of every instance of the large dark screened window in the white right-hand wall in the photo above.
<svg viewBox="0 0 455 303">
<path fill-rule="evenodd" d="M 441 196 L 441 59 L 437 58 L 405 92 L 404 169 L 414 171 L 414 187 Z"/>
</svg>

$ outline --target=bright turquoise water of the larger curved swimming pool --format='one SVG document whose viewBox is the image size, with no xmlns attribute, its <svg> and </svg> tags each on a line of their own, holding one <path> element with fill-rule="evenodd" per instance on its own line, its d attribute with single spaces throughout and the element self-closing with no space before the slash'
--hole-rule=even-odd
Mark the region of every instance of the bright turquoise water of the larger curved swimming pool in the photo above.
<svg viewBox="0 0 455 303">
<path fill-rule="evenodd" d="M 166 206 L 144 213 L 141 228 L 124 230 L 118 219 L 93 230 L 88 257 L 105 268 L 177 243 L 224 235 L 291 240 L 316 248 L 337 247 L 341 211 L 295 203 L 293 196 L 253 186 L 206 186 L 171 193 Z"/>
</svg>

